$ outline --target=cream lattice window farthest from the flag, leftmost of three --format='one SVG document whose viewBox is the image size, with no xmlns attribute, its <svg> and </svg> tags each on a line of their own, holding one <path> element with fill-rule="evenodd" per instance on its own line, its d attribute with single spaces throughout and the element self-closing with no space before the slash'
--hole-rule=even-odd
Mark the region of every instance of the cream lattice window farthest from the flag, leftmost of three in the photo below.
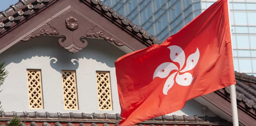
<svg viewBox="0 0 256 126">
<path fill-rule="evenodd" d="M 29 109 L 43 109 L 41 70 L 27 70 Z"/>
</svg>

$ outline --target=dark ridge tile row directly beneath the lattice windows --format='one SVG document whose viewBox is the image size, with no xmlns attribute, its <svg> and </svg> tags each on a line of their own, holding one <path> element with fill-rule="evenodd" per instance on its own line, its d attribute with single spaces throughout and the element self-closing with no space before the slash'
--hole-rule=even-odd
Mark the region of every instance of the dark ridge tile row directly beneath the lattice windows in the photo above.
<svg viewBox="0 0 256 126">
<path fill-rule="evenodd" d="M 13 116 L 19 116 L 22 119 L 90 119 L 90 120 L 122 120 L 120 114 L 97 114 L 97 113 L 49 113 L 49 112 L 2 112 L 0 113 L 0 119 L 12 118 Z M 197 117 L 197 116 L 160 116 L 151 121 L 189 121 L 189 122 L 225 122 L 226 120 L 219 117 Z"/>
</svg>

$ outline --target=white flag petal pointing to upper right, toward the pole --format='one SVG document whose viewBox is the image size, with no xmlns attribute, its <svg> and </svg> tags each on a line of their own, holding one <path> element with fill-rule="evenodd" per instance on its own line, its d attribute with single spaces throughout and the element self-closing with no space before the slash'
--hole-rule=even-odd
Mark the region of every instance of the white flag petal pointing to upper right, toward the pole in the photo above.
<svg viewBox="0 0 256 126">
<path fill-rule="evenodd" d="M 197 62 L 198 62 L 198 59 L 199 59 L 199 56 L 200 56 L 200 53 L 199 53 L 199 50 L 198 48 L 196 48 L 196 52 L 191 54 L 188 58 L 187 58 L 187 63 L 186 63 L 186 66 L 183 70 L 181 70 L 180 72 L 186 72 L 188 70 L 192 70 Z"/>
</svg>

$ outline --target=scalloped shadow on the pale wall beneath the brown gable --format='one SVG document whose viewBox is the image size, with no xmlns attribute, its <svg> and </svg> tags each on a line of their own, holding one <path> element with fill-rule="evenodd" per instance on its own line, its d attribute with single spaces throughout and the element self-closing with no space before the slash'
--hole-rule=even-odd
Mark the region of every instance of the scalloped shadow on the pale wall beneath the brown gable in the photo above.
<svg viewBox="0 0 256 126">
<path fill-rule="evenodd" d="M 125 55 L 123 51 L 105 40 L 87 39 L 87 41 L 87 47 L 73 54 L 59 45 L 58 37 L 40 36 L 28 42 L 19 42 L 6 50 L 0 55 L 0 62 L 6 61 L 6 66 L 12 62 L 20 63 L 23 59 L 43 56 L 49 57 L 50 66 L 61 72 L 61 70 L 78 69 L 79 58 L 95 59 L 114 68 L 114 61 Z"/>
</svg>

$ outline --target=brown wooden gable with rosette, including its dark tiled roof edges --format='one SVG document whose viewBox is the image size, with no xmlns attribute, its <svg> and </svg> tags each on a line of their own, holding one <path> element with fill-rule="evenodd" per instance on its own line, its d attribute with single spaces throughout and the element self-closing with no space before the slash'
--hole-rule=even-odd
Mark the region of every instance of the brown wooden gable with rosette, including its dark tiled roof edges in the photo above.
<svg viewBox="0 0 256 126">
<path fill-rule="evenodd" d="M 72 53 L 85 48 L 87 38 L 101 38 L 133 51 L 160 43 L 99 0 L 41 0 L 15 6 L 0 24 L 0 53 L 42 35 L 60 37 L 59 44 Z"/>
</svg>

